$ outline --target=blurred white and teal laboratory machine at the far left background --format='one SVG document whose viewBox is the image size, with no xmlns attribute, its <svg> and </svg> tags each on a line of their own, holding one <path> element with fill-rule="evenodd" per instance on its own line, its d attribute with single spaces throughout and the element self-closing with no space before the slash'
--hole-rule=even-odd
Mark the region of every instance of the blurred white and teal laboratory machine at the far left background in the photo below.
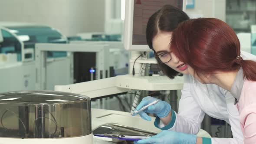
<svg viewBox="0 0 256 144">
<path fill-rule="evenodd" d="M 34 90 L 36 79 L 35 43 L 68 43 L 66 36 L 49 26 L 0 22 L 0 92 Z M 67 52 L 48 52 L 48 89 L 56 83 L 69 84 L 72 61 Z"/>
</svg>

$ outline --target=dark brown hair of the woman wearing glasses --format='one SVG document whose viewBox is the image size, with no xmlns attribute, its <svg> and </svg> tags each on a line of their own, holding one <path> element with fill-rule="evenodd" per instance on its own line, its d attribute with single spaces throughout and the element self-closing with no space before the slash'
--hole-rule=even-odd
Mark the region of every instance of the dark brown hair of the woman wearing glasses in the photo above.
<svg viewBox="0 0 256 144">
<path fill-rule="evenodd" d="M 182 10 L 171 5 L 164 5 L 160 10 L 155 12 L 148 20 L 146 29 L 147 43 L 150 49 L 153 49 L 152 39 L 161 32 L 172 32 L 179 23 L 189 20 L 189 17 Z M 154 49 L 153 49 L 154 50 Z M 156 56 L 156 53 L 154 53 Z M 159 68 L 167 75 L 169 78 L 173 79 L 179 72 L 171 69 L 169 66 L 161 62 L 161 60 L 156 57 L 158 61 Z"/>
</svg>

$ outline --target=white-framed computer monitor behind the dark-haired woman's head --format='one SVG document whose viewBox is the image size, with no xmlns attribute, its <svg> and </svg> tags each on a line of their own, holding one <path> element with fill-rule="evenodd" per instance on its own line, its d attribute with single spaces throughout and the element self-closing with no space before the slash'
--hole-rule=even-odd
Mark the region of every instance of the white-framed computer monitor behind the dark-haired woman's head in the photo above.
<svg viewBox="0 0 256 144">
<path fill-rule="evenodd" d="M 149 17 L 166 4 L 185 10 L 185 0 L 125 0 L 124 46 L 131 51 L 151 51 L 146 40 Z"/>
</svg>

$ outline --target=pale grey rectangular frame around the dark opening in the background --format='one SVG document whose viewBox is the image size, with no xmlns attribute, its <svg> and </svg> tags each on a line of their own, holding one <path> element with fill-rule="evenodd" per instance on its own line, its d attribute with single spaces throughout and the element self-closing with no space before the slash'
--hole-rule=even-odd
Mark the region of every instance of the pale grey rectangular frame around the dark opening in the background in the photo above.
<svg viewBox="0 0 256 144">
<path fill-rule="evenodd" d="M 97 79 L 106 78 L 105 71 L 108 70 L 107 56 L 109 46 L 106 44 L 86 44 L 86 43 L 36 43 L 35 46 L 35 61 L 36 61 L 36 89 L 44 90 L 46 88 L 46 52 L 47 51 L 66 51 L 66 52 L 96 52 Z M 73 63 L 71 62 L 71 65 Z M 71 66 L 72 68 L 73 66 Z M 72 74 L 71 70 L 71 74 Z M 108 72 L 109 74 L 109 72 Z M 73 75 L 72 75 L 73 76 Z"/>
</svg>

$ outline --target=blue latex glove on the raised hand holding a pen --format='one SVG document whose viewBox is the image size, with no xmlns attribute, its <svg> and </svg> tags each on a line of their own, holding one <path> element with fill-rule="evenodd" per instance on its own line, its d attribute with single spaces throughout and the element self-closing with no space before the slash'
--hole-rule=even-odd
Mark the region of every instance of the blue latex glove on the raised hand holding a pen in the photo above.
<svg viewBox="0 0 256 144">
<path fill-rule="evenodd" d="M 145 105 L 148 105 L 149 103 L 151 103 L 155 100 L 158 100 L 158 99 L 153 98 L 151 96 L 147 96 L 142 99 L 142 101 L 139 103 L 139 105 L 137 106 L 137 108 L 135 110 L 138 111 Z M 166 101 L 159 100 L 157 104 L 149 106 L 148 108 L 144 109 L 143 111 L 139 112 L 138 114 L 144 120 L 151 121 L 150 116 L 148 116 L 146 114 L 146 112 L 156 114 L 159 118 L 164 118 L 169 114 L 170 111 L 171 111 L 171 105 L 168 104 Z"/>
</svg>

